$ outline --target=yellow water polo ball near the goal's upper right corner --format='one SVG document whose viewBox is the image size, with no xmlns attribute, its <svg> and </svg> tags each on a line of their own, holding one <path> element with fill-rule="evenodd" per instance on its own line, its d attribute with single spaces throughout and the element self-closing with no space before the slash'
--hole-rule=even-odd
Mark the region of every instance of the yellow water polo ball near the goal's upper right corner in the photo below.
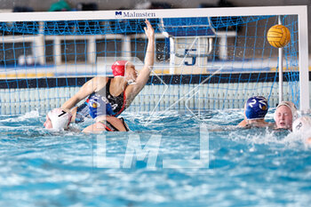
<svg viewBox="0 0 311 207">
<path fill-rule="evenodd" d="M 274 47 L 284 47 L 290 40 L 290 30 L 283 25 L 275 25 L 267 31 L 267 42 Z"/>
</svg>

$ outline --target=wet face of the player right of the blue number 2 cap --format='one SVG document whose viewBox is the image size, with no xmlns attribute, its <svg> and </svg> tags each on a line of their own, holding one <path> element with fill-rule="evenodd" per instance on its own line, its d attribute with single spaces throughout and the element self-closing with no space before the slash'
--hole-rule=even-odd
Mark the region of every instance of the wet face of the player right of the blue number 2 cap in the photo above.
<svg viewBox="0 0 311 207">
<path fill-rule="evenodd" d="M 275 124 L 279 129 L 291 129 L 291 108 L 286 106 L 278 107 L 275 111 Z"/>
</svg>

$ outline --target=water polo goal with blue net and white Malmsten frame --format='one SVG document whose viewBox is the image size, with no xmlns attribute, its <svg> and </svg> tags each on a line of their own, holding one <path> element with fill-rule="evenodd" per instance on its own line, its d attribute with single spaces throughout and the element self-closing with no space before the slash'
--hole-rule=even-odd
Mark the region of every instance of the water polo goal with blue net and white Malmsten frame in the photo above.
<svg viewBox="0 0 311 207">
<path fill-rule="evenodd" d="M 309 108 L 307 7 L 236 7 L 1 13 L 1 115 L 60 107 L 92 77 L 112 77 L 116 60 L 140 71 L 145 19 L 156 31 L 156 61 L 127 111 L 242 108 L 253 95 L 275 107 L 280 76 L 282 99 Z M 291 32 L 283 61 L 267 42 L 276 24 Z"/>
</svg>

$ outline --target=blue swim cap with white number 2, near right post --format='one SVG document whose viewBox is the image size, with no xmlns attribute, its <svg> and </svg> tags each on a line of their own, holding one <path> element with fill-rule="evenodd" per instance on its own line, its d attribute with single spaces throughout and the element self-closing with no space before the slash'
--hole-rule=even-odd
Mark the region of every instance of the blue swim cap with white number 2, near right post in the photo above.
<svg viewBox="0 0 311 207">
<path fill-rule="evenodd" d="M 263 96 L 251 97 L 246 102 L 245 115 L 248 120 L 262 119 L 267 115 L 267 99 Z"/>
</svg>

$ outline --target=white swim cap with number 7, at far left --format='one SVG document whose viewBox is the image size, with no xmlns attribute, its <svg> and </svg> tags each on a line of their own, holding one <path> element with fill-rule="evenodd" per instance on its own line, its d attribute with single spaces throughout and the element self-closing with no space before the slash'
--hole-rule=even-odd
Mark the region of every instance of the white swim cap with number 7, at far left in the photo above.
<svg viewBox="0 0 311 207">
<path fill-rule="evenodd" d="M 52 122 L 53 130 L 66 130 L 71 121 L 71 113 L 62 108 L 54 108 L 47 114 Z"/>
</svg>

